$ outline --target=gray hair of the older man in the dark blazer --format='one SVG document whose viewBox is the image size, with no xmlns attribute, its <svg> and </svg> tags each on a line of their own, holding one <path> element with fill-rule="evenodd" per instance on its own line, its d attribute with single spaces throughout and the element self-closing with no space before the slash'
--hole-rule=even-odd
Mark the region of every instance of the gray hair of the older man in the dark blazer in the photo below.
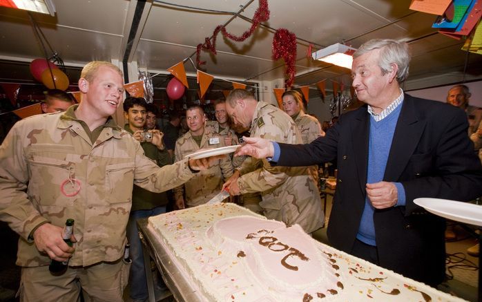
<svg viewBox="0 0 482 302">
<path fill-rule="evenodd" d="M 380 66 L 382 74 L 385 75 L 392 70 L 391 64 L 396 64 L 398 66 L 396 73 L 397 82 L 402 83 L 405 81 L 408 77 L 408 67 L 410 63 L 408 44 L 393 39 L 372 39 L 360 46 L 353 54 L 353 57 L 355 59 L 375 49 L 380 49 L 378 66 Z"/>
</svg>

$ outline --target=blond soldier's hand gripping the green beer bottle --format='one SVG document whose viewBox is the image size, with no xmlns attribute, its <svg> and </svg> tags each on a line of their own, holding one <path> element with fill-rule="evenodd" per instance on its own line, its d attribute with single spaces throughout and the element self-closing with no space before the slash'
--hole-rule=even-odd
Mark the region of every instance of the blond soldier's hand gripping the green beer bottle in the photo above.
<svg viewBox="0 0 482 302">
<path fill-rule="evenodd" d="M 45 223 L 40 227 L 37 227 L 32 234 L 35 242 L 35 246 L 39 252 L 45 252 L 50 259 L 56 261 L 67 261 L 74 252 L 73 247 L 69 247 L 62 238 L 63 229 L 57 227 L 57 225 L 51 225 Z M 76 242 L 75 237 L 70 238 L 73 242 Z"/>
</svg>

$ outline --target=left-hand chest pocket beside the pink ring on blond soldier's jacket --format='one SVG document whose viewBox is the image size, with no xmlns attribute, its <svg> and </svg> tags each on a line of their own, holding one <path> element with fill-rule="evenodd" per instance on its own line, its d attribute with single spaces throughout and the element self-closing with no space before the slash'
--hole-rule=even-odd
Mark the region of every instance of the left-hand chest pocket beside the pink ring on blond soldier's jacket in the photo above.
<svg viewBox="0 0 482 302">
<path fill-rule="evenodd" d="M 26 152 L 30 179 L 28 195 L 43 206 L 66 207 L 73 198 L 61 194 L 61 184 L 68 179 L 75 164 L 66 160 L 73 146 L 34 144 Z"/>
</svg>

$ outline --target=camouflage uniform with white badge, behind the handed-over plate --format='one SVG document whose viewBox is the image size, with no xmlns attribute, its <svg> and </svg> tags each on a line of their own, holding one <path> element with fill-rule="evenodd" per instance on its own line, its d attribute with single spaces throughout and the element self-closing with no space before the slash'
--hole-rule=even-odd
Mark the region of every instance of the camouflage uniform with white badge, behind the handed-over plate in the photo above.
<svg viewBox="0 0 482 302">
<path fill-rule="evenodd" d="M 213 149 L 224 146 L 224 140 L 219 135 L 214 135 L 205 129 L 202 135 L 201 146 L 198 146 L 191 135 L 191 131 L 188 131 L 175 142 L 174 160 L 176 162 L 183 160 L 186 155 L 200 149 Z M 229 156 L 225 156 L 209 169 L 196 173 L 184 185 L 176 187 L 173 190 L 174 198 L 177 200 L 182 197 L 185 191 L 184 202 L 186 207 L 202 205 L 218 194 L 222 189 L 224 180 L 227 180 L 232 175 L 233 165 L 231 164 L 231 159 Z"/>
</svg>

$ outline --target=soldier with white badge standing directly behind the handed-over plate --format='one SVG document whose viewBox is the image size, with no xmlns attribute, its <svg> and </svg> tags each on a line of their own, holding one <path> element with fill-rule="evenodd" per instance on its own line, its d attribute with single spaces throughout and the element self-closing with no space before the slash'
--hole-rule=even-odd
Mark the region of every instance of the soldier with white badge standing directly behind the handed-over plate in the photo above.
<svg viewBox="0 0 482 302">
<path fill-rule="evenodd" d="M 178 138 L 175 143 L 175 161 L 183 160 L 186 155 L 200 149 L 224 147 L 224 140 L 219 135 L 205 131 L 206 117 L 200 106 L 191 106 L 186 111 L 189 131 Z M 226 156 L 215 162 L 209 169 L 201 171 L 184 185 L 176 187 L 174 198 L 179 209 L 202 205 L 218 194 L 223 180 L 233 175 L 231 159 Z"/>
</svg>

